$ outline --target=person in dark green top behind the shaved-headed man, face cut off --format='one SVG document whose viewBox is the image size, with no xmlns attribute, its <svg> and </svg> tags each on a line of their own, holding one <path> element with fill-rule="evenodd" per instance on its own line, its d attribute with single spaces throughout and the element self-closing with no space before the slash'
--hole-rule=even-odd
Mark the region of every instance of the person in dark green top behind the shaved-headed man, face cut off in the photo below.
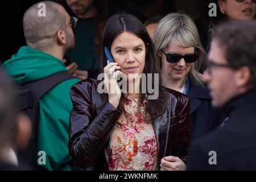
<svg viewBox="0 0 256 182">
<path fill-rule="evenodd" d="M 88 77 L 97 78 L 100 73 L 100 41 L 109 18 L 107 0 L 65 0 L 72 13 L 79 21 L 74 28 L 75 48 L 68 52 L 72 62 L 67 69 L 82 80 Z M 64 59 L 64 63 L 67 59 Z"/>
</svg>

